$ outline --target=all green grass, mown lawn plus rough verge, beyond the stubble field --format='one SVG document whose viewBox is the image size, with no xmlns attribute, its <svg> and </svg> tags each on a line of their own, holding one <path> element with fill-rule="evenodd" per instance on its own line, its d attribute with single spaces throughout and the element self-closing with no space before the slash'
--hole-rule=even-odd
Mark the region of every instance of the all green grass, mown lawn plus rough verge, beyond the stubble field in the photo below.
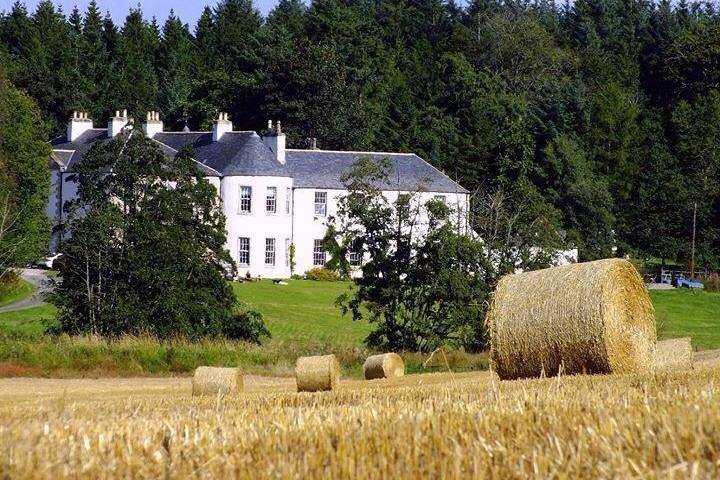
<svg viewBox="0 0 720 480">
<path fill-rule="evenodd" d="M 273 335 L 262 346 L 208 340 L 158 342 L 150 338 L 104 341 L 46 337 L 44 325 L 55 308 L 38 307 L 0 314 L 0 376 L 149 376 L 189 374 L 199 365 L 239 365 L 248 373 L 292 375 L 302 355 L 335 353 L 345 376 L 357 378 L 371 353 L 363 340 L 372 326 L 343 317 L 335 298 L 350 287 L 343 282 L 270 281 L 234 284 L 238 298 L 265 316 Z M 661 339 L 690 336 L 696 349 L 720 348 L 720 294 L 654 290 L 650 296 Z M 481 370 L 487 355 L 448 352 L 423 367 L 426 356 L 403 353 L 408 373 Z"/>
</svg>

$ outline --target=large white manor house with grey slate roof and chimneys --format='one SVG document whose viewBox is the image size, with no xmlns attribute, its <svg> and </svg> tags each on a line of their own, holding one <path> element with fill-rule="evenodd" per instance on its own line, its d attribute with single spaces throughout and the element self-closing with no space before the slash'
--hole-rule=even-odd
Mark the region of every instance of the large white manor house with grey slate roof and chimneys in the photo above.
<svg viewBox="0 0 720 480">
<path fill-rule="evenodd" d="M 51 142 L 52 182 L 48 215 L 54 224 L 63 220 L 63 204 L 77 193 L 68 180 L 95 142 L 112 139 L 131 119 L 116 112 L 107 128 L 95 128 L 86 113 L 73 113 L 67 134 Z M 253 131 L 233 131 L 227 114 L 219 114 L 211 132 L 166 132 L 159 114 L 150 112 L 143 132 L 174 158 L 186 145 L 195 148 L 195 161 L 215 186 L 226 216 L 227 248 L 241 276 L 287 278 L 291 275 L 289 252 L 295 248 L 295 273 L 323 266 L 327 252 L 323 237 L 327 219 L 336 213 L 338 199 L 347 193 L 343 173 L 360 158 L 387 158 L 393 167 L 391 182 L 383 187 L 391 201 L 398 195 L 424 189 L 419 201 L 436 198 L 462 216 L 467 212 L 468 191 L 422 158 L 412 153 L 298 150 L 285 147 L 280 122 L 260 136 Z M 459 217 L 462 218 L 462 217 Z M 53 238 L 51 250 L 58 248 Z M 350 259 L 351 263 L 358 259 Z"/>
</svg>

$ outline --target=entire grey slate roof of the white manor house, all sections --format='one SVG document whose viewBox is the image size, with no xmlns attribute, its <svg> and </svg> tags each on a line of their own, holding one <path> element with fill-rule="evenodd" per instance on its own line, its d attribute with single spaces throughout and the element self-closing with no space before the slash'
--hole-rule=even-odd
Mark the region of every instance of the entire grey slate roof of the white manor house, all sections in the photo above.
<svg viewBox="0 0 720 480">
<path fill-rule="evenodd" d="M 387 158 L 393 172 L 389 182 L 382 186 L 385 190 L 468 193 L 447 175 L 411 153 L 288 149 L 283 165 L 255 132 L 226 133 L 218 142 L 212 141 L 210 132 L 162 132 L 153 139 L 169 158 L 175 158 L 183 147 L 192 145 L 195 160 L 208 176 L 292 177 L 293 184 L 298 188 L 343 189 L 342 174 L 348 172 L 358 159 Z M 52 160 L 65 170 L 72 171 L 73 165 L 82 161 L 94 143 L 109 140 L 104 128 L 89 130 L 74 142 L 59 137 L 50 142 Z"/>
</svg>

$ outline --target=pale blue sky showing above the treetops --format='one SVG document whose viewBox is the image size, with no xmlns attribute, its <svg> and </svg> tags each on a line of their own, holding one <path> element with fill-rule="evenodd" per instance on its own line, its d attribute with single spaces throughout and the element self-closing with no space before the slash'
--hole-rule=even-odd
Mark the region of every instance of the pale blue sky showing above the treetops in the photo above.
<svg viewBox="0 0 720 480">
<path fill-rule="evenodd" d="M 27 6 L 30 12 L 35 10 L 35 7 L 40 0 L 21 0 Z M 135 8 L 140 4 L 142 6 L 145 17 L 152 18 L 153 16 L 158 18 L 158 21 L 165 20 L 170 13 L 170 9 L 175 10 L 175 14 L 180 17 L 183 22 L 189 23 L 194 26 L 197 22 L 198 17 L 202 13 L 205 5 L 215 5 L 217 0 L 183 0 L 178 2 L 177 0 L 96 0 L 100 10 L 103 14 L 109 11 L 112 15 L 115 23 L 122 23 L 127 16 L 128 11 L 131 8 Z M 0 0 L 0 11 L 10 10 L 15 0 Z M 63 8 L 65 14 L 69 14 L 75 5 L 81 11 L 87 9 L 90 0 L 54 0 L 55 5 L 60 5 Z M 263 15 L 272 10 L 272 8 L 278 3 L 278 0 L 253 0 L 255 8 L 260 10 Z"/>
</svg>

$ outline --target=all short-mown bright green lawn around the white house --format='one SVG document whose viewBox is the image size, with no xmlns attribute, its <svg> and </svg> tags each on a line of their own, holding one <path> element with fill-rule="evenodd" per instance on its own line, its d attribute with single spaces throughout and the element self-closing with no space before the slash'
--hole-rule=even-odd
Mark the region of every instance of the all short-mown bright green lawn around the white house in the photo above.
<svg viewBox="0 0 720 480">
<path fill-rule="evenodd" d="M 342 316 L 335 299 L 346 291 L 346 282 L 290 280 L 289 285 L 271 281 L 233 284 L 238 298 L 260 310 L 273 335 L 270 343 L 362 346 L 371 326 Z M 720 293 L 688 290 L 652 290 L 660 339 L 690 336 L 696 349 L 720 348 Z M 27 310 L 0 313 L 0 335 L 40 336 L 43 320 L 55 309 L 41 305 Z"/>
</svg>

